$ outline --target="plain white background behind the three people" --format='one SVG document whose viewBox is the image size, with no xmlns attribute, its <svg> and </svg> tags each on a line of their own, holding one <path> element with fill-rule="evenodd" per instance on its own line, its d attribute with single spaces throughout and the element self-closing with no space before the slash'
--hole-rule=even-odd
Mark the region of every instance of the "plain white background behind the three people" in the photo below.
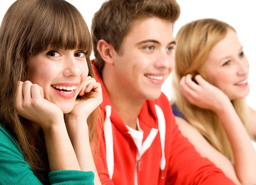
<svg viewBox="0 0 256 185">
<path fill-rule="evenodd" d="M 15 0 L 6 0 L 0 3 L 0 22 L 7 9 Z M 90 29 L 93 14 L 99 9 L 104 0 L 67 0 L 81 12 Z M 4 3 L 3 3 L 4 2 Z M 248 104 L 256 110 L 256 1 L 255 0 L 177 0 L 181 14 L 175 23 L 174 37 L 181 26 L 192 20 L 202 18 L 216 18 L 233 26 L 244 46 L 250 63 L 249 85 L 250 94 Z M 92 56 L 93 58 L 93 56 Z M 171 76 L 163 85 L 162 91 L 170 99 L 172 96 Z"/>
</svg>

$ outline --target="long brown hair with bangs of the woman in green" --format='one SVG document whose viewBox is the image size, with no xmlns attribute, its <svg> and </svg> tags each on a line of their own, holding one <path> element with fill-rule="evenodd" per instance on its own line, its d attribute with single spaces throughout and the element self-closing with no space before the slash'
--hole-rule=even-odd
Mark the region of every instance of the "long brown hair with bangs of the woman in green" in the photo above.
<svg viewBox="0 0 256 185">
<path fill-rule="evenodd" d="M 9 7 L 0 27 L 0 124 L 12 135 L 26 162 L 43 183 L 47 183 L 47 165 L 31 144 L 32 126 L 19 117 L 15 108 L 18 81 L 26 80 L 27 60 L 45 51 L 56 49 L 87 51 L 89 75 L 94 77 L 90 63 L 92 41 L 79 11 L 64 0 L 17 0 Z M 90 141 L 94 143 L 98 109 L 87 120 Z M 38 143 L 44 143 L 39 139 Z M 48 160 L 48 159 L 46 159 Z"/>
</svg>

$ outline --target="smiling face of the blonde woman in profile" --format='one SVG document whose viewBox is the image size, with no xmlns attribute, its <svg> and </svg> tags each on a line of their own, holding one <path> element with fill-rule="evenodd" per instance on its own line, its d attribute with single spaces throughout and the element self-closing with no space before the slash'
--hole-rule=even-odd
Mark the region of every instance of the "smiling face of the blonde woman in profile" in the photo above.
<svg viewBox="0 0 256 185">
<path fill-rule="evenodd" d="M 212 48 L 205 65 L 209 83 L 221 89 L 230 100 L 249 94 L 249 63 L 235 31 L 227 31 L 226 37 Z"/>
</svg>

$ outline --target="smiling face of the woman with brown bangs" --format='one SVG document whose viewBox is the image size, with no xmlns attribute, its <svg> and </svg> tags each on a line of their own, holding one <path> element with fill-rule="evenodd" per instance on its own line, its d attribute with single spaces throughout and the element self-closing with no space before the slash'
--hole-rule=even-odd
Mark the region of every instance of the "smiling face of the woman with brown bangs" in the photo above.
<svg viewBox="0 0 256 185">
<path fill-rule="evenodd" d="M 72 111 L 89 72 L 85 52 L 49 49 L 29 58 L 28 66 L 27 80 L 43 88 L 44 98 L 64 114 Z"/>
</svg>

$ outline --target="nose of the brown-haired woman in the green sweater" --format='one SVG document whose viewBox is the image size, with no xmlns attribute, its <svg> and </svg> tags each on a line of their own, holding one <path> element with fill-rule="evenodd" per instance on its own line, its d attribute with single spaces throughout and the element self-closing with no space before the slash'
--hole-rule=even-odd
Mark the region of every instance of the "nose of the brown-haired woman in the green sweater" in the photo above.
<svg viewBox="0 0 256 185">
<path fill-rule="evenodd" d="M 63 74 L 64 76 L 74 76 L 78 77 L 81 75 L 81 68 L 79 67 L 79 61 L 76 60 L 76 57 L 68 56 L 65 61 L 65 67 Z"/>
</svg>

